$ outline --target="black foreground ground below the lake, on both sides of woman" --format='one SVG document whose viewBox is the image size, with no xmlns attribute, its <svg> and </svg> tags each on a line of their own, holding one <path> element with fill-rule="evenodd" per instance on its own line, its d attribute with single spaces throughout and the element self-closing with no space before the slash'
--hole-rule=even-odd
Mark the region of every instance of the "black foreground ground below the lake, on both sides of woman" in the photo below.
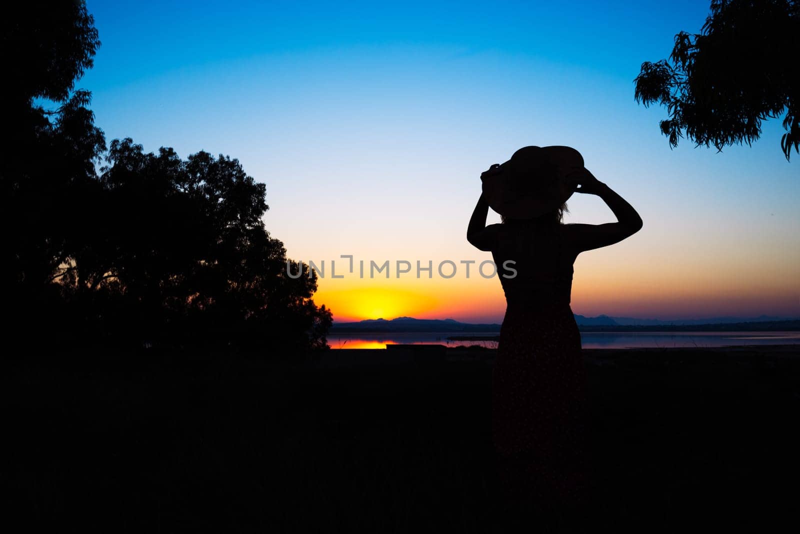
<svg viewBox="0 0 800 534">
<path fill-rule="evenodd" d="M 585 352 L 592 530 L 794 523 L 800 347 Z M 2 522 L 491 532 L 492 353 L 434 353 L 6 355 Z"/>
</svg>

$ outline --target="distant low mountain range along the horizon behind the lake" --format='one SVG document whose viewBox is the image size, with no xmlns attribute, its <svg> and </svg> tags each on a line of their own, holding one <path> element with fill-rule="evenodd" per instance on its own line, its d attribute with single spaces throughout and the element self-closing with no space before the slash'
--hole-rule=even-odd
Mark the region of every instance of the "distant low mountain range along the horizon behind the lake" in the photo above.
<svg viewBox="0 0 800 534">
<path fill-rule="evenodd" d="M 575 322 L 582 331 L 642 331 L 642 330 L 710 330 L 710 331 L 775 331 L 800 330 L 800 319 L 788 317 L 713 317 L 710 319 L 635 319 L 598 315 L 585 317 L 575 314 Z M 498 323 L 461 323 L 454 319 L 365 319 L 356 323 L 334 323 L 331 332 L 494 332 L 500 331 Z"/>
</svg>

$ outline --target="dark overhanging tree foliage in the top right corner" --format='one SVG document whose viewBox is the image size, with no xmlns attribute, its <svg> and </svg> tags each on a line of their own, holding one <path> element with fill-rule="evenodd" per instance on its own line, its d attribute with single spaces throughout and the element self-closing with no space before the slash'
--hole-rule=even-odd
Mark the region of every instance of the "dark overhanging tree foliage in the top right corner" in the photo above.
<svg viewBox="0 0 800 534">
<path fill-rule="evenodd" d="M 642 63 L 634 98 L 666 106 L 672 147 L 686 136 L 718 150 L 750 145 L 762 120 L 786 113 L 781 147 L 800 151 L 800 4 L 796 0 L 712 0 L 701 34 L 681 31 L 669 60 Z"/>
</svg>

